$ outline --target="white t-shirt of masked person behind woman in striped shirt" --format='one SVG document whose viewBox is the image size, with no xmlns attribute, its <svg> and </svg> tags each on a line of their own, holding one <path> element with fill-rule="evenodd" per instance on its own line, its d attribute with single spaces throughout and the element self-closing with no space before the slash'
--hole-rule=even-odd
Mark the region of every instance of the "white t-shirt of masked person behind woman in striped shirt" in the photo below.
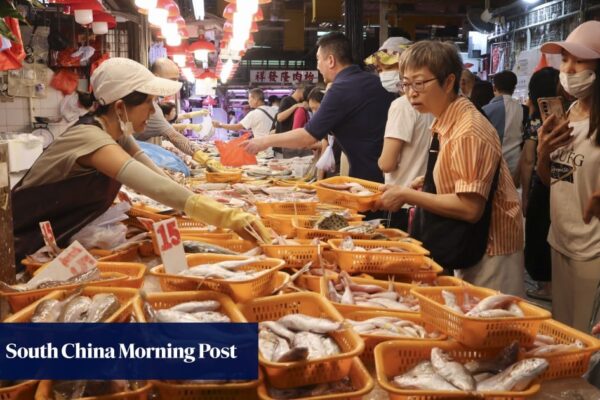
<svg viewBox="0 0 600 400">
<path fill-rule="evenodd" d="M 400 139 L 404 145 L 398 155 L 398 168 L 385 174 L 385 183 L 409 186 L 415 178 L 425 175 L 432 123 L 433 115 L 415 110 L 406 96 L 392 102 L 385 137 Z"/>
</svg>

